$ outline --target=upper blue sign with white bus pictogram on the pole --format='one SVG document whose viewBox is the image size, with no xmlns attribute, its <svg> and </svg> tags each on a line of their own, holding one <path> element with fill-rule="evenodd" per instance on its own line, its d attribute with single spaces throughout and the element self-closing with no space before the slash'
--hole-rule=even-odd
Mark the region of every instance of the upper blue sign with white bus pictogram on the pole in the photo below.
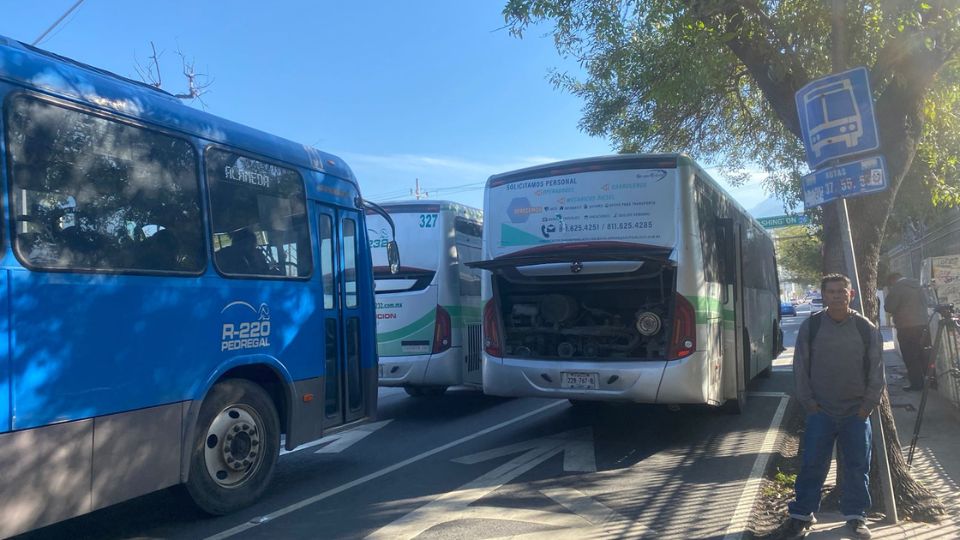
<svg viewBox="0 0 960 540">
<path fill-rule="evenodd" d="M 794 97 L 811 170 L 880 147 L 867 68 L 818 79 Z"/>
</svg>

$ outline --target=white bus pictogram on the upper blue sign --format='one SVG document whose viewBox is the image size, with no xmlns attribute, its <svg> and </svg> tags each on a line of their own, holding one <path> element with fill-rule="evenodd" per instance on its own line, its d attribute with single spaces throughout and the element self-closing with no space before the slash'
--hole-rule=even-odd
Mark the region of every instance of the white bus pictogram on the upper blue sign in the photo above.
<svg viewBox="0 0 960 540">
<path fill-rule="evenodd" d="M 863 136 L 863 119 L 849 80 L 839 81 L 807 96 L 806 109 L 810 121 L 810 147 L 817 157 L 829 144 L 844 143 L 846 148 L 856 148 Z"/>
</svg>

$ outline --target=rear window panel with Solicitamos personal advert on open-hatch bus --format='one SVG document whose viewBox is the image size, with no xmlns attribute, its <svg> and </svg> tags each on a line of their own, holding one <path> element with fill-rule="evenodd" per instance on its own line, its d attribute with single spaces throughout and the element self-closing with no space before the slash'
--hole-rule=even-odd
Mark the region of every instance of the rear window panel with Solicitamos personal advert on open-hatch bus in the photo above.
<svg viewBox="0 0 960 540">
<path fill-rule="evenodd" d="M 673 248 L 676 174 L 667 169 L 591 169 L 492 179 L 486 202 L 492 240 L 487 254 L 498 258 L 570 242 Z"/>
</svg>

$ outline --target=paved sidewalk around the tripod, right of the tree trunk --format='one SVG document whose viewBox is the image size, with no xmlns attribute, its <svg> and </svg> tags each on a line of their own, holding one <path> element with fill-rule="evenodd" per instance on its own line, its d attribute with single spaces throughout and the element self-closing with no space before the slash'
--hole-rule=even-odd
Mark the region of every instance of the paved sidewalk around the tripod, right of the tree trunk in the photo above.
<svg viewBox="0 0 960 540">
<path fill-rule="evenodd" d="M 886 366 L 887 391 L 897 424 L 897 434 L 903 446 L 904 457 L 910 449 L 910 439 L 920 407 L 919 392 L 904 392 L 907 384 L 906 368 L 894 348 L 891 332 L 883 331 L 885 343 L 883 360 Z M 960 538 L 960 412 L 936 391 L 928 391 L 920 438 L 913 456 L 914 477 L 940 497 L 947 515 L 936 525 L 901 521 L 896 525 L 872 521 L 873 538 L 941 539 Z M 832 475 L 832 471 L 831 471 Z M 828 479 L 828 482 L 833 482 Z M 807 536 L 810 540 L 852 538 L 847 534 L 843 516 L 821 513 L 817 524 Z"/>
</svg>

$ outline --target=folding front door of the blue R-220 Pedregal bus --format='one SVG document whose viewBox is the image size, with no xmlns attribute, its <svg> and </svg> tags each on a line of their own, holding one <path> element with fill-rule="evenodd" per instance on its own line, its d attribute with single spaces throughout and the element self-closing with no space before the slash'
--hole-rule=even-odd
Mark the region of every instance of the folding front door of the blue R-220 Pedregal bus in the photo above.
<svg viewBox="0 0 960 540">
<path fill-rule="evenodd" d="M 323 272 L 324 428 L 363 418 L 366 396 L 360 367 L 357 281 L 359 214 L 318 205 Z"/>
</svg>

